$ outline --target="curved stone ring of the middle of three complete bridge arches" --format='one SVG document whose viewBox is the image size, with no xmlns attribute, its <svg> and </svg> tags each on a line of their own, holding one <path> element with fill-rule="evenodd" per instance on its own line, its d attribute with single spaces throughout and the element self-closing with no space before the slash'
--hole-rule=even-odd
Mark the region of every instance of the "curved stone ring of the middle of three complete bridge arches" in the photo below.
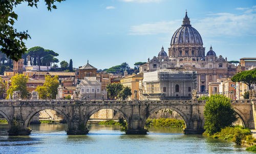
<svg viewBox="0 0 256 154">
<path fill-rule="evenodd" d="M 100 110 L 103 110 L 103 109 L 112 109 L 114 111 L 117 111 L 119 112 L 123 118 L 126 120 L 127 124 L 129 125 L 129 121 L 130 119 L 126 116 L 126 114 L 121 110 L 121 109 L 118 109 L 116 107 L 113 107 L 113 106 L 99 106 L 99 107 L 96 107 L 94 109 L 92 109 L 88 114 L 87 114 L 87 118 L 84 119 L 84 123 L 87 123 L 89 118 L 96 112 L 100 111 Z"/>
</svg>

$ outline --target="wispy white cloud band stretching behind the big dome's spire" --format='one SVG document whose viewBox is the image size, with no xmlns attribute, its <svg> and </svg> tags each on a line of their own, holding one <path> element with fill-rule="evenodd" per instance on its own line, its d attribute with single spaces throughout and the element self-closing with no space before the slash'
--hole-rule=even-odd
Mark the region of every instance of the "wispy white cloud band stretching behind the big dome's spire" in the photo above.
<svg viewBox="0 0 256 154">
<path fill-rule="evenodd" d="M 247 10 L 243 9 L 243 11 L 242 14 L 207 14 L 203 19 L 190 18 L 190 21 L 192 26 L 204 37 L 256 36 L 256 10 L 249 8 Z M 130 28 L 130 35 L 173 34 L 181 24 L 182 19 L 133 25 Z"/>
</svg>

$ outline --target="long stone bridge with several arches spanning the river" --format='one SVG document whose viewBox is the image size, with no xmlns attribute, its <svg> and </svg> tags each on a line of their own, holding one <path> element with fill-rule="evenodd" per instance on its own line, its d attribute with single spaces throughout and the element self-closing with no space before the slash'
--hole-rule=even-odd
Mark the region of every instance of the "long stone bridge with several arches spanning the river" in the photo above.
<svg viewBox="0 0 256 154">
<path fill-rule="evenodd" d="M 255 129 L 255 110 L 252 100 L 231 100 L 245 127 Z M 185 134 L 202 134 L 204 131 L 204 100 L 150 100 L 150 101 L 86 101 L 86 100 L 0 100 L 0 114 L 11 129 L 13 119 L 19 122 L 19 135 L 29 135 L 29 124 L 39 111 L 51 109 L 63 116 L 68 123 L 70 134 L 79 133 L 79 125 L 86 124 L 90 116 L 101 109 L 119 112 L 127 122 L 126 134 L 146 134 L 146 119 L 161 109 L 178 112 L 186 124 Z M 9 131 L 9 135 L 12 134 Z M 69 133 L 68 133 L 69 134 Z M 86 134 L 86 133 L 84 133 Z"/>
</svg>

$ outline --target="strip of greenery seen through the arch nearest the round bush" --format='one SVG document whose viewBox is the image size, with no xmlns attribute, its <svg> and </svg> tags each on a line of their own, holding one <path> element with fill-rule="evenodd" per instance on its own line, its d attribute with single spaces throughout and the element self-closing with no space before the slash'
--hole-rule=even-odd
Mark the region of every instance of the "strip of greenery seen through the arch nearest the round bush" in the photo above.
<svg viewBox="0 0 256 154">
<path fill-rule="evenodd" d="M 146 119 L 146 126 L 157 127 L 172 127 L 172 128 L 185 128 L 184 120 L 160 118 L 160 119 Z"/>
</svg>

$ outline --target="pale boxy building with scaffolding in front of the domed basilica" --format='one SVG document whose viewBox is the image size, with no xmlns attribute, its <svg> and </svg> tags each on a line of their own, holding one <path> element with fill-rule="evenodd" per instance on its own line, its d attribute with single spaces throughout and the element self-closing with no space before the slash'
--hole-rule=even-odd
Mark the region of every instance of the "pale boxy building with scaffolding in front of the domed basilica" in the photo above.
<svg viewBox="0 0 256 154">
<path fill-rule="evenodd" d="M 185 69 L 159 69 L 143 74 L 142 100 L 191 99 L 197 89 L 197 71 Z"/>
</svg>

